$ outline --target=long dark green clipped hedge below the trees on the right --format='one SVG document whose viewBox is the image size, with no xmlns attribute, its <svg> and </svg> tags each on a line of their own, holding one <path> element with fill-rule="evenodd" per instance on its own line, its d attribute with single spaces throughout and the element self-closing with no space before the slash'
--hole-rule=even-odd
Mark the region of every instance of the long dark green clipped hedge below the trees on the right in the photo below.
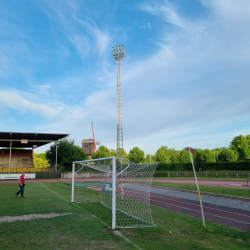
<svg viewBox="0 0 250 250">
<path fill-rule="evenodd" d="M 250 171 L 250 161 L 239 162 L 204 162 L 194 164 L 196 171 Z M 162 163 L 160 162 L 156 171 L 192 171 L 191 163 Z"/>
</svg>

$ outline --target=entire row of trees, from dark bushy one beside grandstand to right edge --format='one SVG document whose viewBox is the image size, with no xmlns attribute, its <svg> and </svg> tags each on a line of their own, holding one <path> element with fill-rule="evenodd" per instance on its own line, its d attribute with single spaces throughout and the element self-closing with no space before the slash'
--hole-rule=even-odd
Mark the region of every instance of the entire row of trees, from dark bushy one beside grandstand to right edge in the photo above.
<svg viewBox="0 0 250 250">
<path fill-rule="evenodd" d="M 203 162 L 236 162 L 250 160 L 250 135 L 239 135 L 233 138 L 229 147 L 215 149 L 194 149 L 192 158 L 195 163 Z M 106 146 L 100 146 L 97 152 L 91 156 L 92 159 L 99 159 L 111 156 L 123 157 L 137 163 L 190 163 L 190 153 L 187 149 L 175 150 L 167 146 L 161 146 L 155 154 L 145 155 L 139 147 L 132 148 L 129 153 L 124 149 L 119 150 L 118 154 L 114 149 L 108 149 Z M 56 146 L 53 144 L 46 151 L 45 156 L 49 164 L 55 164 Z M 58 164 L 64 169 L 71 169 L 73 161 L 86 160 L 87 156 L 84 150 L 74 144 L 74 140 L 63 139 L 57 143 Z"/>
</svg>

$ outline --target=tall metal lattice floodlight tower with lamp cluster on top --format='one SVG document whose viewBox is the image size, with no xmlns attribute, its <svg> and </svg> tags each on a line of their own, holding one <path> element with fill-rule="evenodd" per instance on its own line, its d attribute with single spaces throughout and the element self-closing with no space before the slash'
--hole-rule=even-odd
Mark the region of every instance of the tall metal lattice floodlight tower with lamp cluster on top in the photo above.
<svg viewBox="0 0 250 250">
<path fill-rule="evenodd" d="M 113 57 L 117 62 L 117 144 L 116 154 L 118 156 L 119 149 L 122 149 L 123 157 L 123 126 L 122 126 L 122 77 L 121 77 L 121 63 L 122 59 L 126 57 L 126 52 L 123 45 L 112 47 Z"/>
</svg>

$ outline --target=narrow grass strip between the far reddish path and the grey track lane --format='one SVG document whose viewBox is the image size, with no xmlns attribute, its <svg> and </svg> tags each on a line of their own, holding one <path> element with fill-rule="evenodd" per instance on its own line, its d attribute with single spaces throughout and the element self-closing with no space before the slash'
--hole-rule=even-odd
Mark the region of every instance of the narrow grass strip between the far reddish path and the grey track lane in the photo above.
<svg viewBox="0 0 250 250">
<path fill-rule="evenodd" d="M 198 183 L 199 183 L 199 180 L 198 180 Z M 170 183 L 170 182 L 152 182 L 152 185 L 197 191 L 196 184 Z M 222 195 L 230 195 L 230 196 L 244 197 L 244 198 L 249 198 L 250 199 L 250 191 L 248 192 L 247 189 L 243 189 L 243 188 L 199 185 L 199 189 L 200 189 L 201 192 L 208 192 L 208 193 L 222 194 Z"/>
</svg>

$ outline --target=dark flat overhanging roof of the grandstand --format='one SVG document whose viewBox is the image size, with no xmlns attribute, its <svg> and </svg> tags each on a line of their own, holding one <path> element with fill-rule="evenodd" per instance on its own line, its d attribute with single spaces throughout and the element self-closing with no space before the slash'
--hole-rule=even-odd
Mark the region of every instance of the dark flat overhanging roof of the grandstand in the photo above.
<svg viewBox="0 0 250 250">
<path fill-rule="evenodd" d="M 0 132 L 0 147 L 37 148 L 45 144 L 56 142 L 69 136 L 69 134 Z"/>
</svg>

